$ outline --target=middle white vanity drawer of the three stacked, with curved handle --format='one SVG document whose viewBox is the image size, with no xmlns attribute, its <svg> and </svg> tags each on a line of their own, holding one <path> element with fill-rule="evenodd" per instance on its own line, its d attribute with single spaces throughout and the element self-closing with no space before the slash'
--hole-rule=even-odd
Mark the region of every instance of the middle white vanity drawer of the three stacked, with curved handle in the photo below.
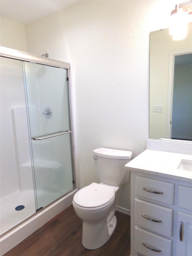
<svg viewBox="0 0 192 256">
<path fill-rule="evenodd" d="M 165 236 L 172 236 L 172 223 L 173 209 L 135 198 L 136 225 Z"/>
</svg>

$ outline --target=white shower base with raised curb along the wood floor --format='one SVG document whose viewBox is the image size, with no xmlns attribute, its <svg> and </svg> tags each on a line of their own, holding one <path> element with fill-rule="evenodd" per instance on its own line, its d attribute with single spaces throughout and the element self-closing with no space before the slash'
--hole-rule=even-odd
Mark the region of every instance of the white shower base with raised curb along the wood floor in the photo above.
<svg viewBox="0 0 192 256">
<path fill-rule="evenodd" d="M 35 214 L 32 213 L 32 215 L 29 218 L 26 217 L 25 221 L 20 222 L 19 225 L 16 225 L 16 227 L 13 227 L 12 229 L 10 229 L 6 233 L 4 233 L 0 238 L 0 255 L 5 254 L 7 251 L 9 251 L 11 248 L 13 248 L 15 245 L 17 245 L 19 242 L 21 242 L 27 236 L 32 234 L 39 227 L 43 226 L 47 221 L 49 221 L 50 219 L 55 217 L 59 212 L 63 211 L 68 206 L 70 206 L 72 204 L 73 196 L 76 193 L 76 191 L 77 190 L 74 190 L 74 191 L 70 192 L 69 194 L 61 197 L 60 199 L 58 199 L 54 203 L 50 204 L 49 206 L 45 207 L 41 211 L 36 212 L 36 213 L 34 212 Z M 33 196 L 34 196 L 34 191 L 29 191 L 29 194 L 32 196 L 31 192 L 33 192 Z M 31 207 L 30 204 L 32 202 L 32 201 L 29 201 L 29 194 L 28 194 L 28 199 L 27 200 L 25 199 L 26 200 L 25 201 L 26 214 L 30 210 L 30 207 Z M 21 195 L 21 198 L 18 200 L 18 203 L 21 202 L 20 200 L 22 200 L 21 204 L 24 205 L 24 203 L 23 203 L 24 198 L 25 198 L 25 196 Z M 7 205 L 7 206 L 8 206 L 7 200 L 11 200 L 11 202 L 14 203 L 14 205 L 15 205 L 14 198 L 12 200 L 7 197 L 4 200 L 6 200 L 5 205 Z M 34 197 L 33 197 L 33 200 L 34 200 Z M 13 212 L 15 211 L 15 207 L 13 207 L 13 209 L 14 209 Z M 24 209 L 21 211 L 18 211 L 18 212 L 20 212 L 20 214 L 21 214 L 21 212 L 24 211 Z M 6 210 L 3 209 L 3 211 L 4 211 L 4 214 L 6 214 L 6 218 L 8 219 L 8 221 L 6 221 L 5 218 L 1 215 L 1 217 L 4 219 L 4 221 L 2 221 L 2 224 L 4 224 L 4 228 L 6 228 L 5 223 L 10 222 L 12 218 L 16 218 L 17 216 L 16 217 L 7 216 L 7 215 L 11 215 L 11 212 L 9 213 L 9 209 L 6 209 Z M 14 214 L 15 214 L 15 212 L 14 212 Z M 23 215 L 22 217 L 25 218 L 26 215 L 24 215 L 24 214 L 25 214 L 25 212 L 22 212 L 22 215 Z M 18 221 L 18 219 L 17 219 L 17 221 Z"/>
</svg>

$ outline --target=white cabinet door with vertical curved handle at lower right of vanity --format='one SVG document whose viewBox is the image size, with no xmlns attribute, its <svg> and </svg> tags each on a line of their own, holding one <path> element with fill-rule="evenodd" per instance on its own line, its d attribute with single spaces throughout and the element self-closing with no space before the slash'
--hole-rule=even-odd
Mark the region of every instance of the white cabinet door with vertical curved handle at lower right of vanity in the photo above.
<svg viewBox="0 0 192 256">
<path fill-rule="evenodd" d="M 192 255 L 192 215 L 178 212 L 177 217 L 177 256 Z"/>
</svg>

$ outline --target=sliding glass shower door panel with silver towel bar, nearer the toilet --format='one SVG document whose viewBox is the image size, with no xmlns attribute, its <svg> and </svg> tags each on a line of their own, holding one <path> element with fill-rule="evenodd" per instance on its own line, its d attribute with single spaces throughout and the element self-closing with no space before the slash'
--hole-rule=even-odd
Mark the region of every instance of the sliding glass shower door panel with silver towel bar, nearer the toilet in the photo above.
<svg viewBox="0 0 192 256">
<path fill-rule="evenodd" d="M 74 188 L 67 69 L 23 62 L 36 209 Z"/>
</svg>

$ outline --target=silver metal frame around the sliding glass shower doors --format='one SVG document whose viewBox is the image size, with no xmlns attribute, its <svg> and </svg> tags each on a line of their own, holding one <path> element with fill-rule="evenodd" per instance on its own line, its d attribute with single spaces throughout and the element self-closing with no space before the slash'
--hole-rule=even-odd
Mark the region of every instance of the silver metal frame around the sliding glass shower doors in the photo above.
<svg viewBox="0 0 192 256">
<path fill-rule="evenodd" d="M 20 60 L 20 61 L 33 62 L 33 63 L 46 65 L 46 66 L 51 66 L 51 67 L 56 67 L 56 68 L 63 68 L 63 69 L 67 70 L 67 73 L 68 73 L 67 82 L 68 82 L 68 89 L 69 89 L 69 113 L 70 113 L 71 131 L 61 131 L 61 132 L 63 132 L 63 134 L 64 133 L 70 133 L 71 134 L 70 139 L 71 139 L 71 155 L 72 155 L 71 164 L 72 164 L 72 170 L 73 170 L 73 173 L 72 173 L 73 189 L 70 190 L 69 192 L 67 192 L 66 194 L 64 194 L 64 196 L 65 196 L 65 195 L 69 194 L 71 191 L 74 191 L 76 189 L 74 138 L 73 138 L 73 124 L 72 124 L 72 116 L 73 115 L 72 115 L 72 104 L 71 104 L 72 92 L 71 92 L 71 84 L 70 84 L 70 63 L 62 62 L 62 61 L 58 61 L 58 60 L 54 60 L 54 59 L 49 59 L 49 58 L 45 58 L 45 57 L 36 56 L 34 54 L 31 54 L 31 53 L 18 51 L 18 50 L 14 50 L 14 49 L 3 47 L 3 46 L 0 46 L 0 56 L 5 57 L 5 58 L 9 58 L 9 59 L 16 59 L 16 60 Z M 26 102 L 26 107 L 27 107 L 27 111 L 28 111 L 27 102 Z M 29 119 L 29 115 L 27 115 L 27 119 Z M 29 120 L 27 120 L 27 121 L 28 121 L 28 124 L 29 124 Z M 30 134 L 30 130 L 29 130 L 29 134 Z M 42 136 L 46 136 L 46 135 L 47 134 L 42 135 Z M 34 139 L 34 138 L 30 138 L 30 139 Z M 31 155 L 32 155 L 31 142 L 30 142 L 30 151 L 31 151 Z M 33 168 L 33 173 L 34 173 L 33 160 L 32 160 L 32 168 Z M 34 177 L 34 174 L 33 174 L 33 177 Z M 34 189 L 35 189 L 35 181 L 34 181 Z M 36 197 L 36 195 L 35 195 L 35 197 Z M 35 198 L 35 204 L 36 204 L 36 198 Z"/>
</svg>

